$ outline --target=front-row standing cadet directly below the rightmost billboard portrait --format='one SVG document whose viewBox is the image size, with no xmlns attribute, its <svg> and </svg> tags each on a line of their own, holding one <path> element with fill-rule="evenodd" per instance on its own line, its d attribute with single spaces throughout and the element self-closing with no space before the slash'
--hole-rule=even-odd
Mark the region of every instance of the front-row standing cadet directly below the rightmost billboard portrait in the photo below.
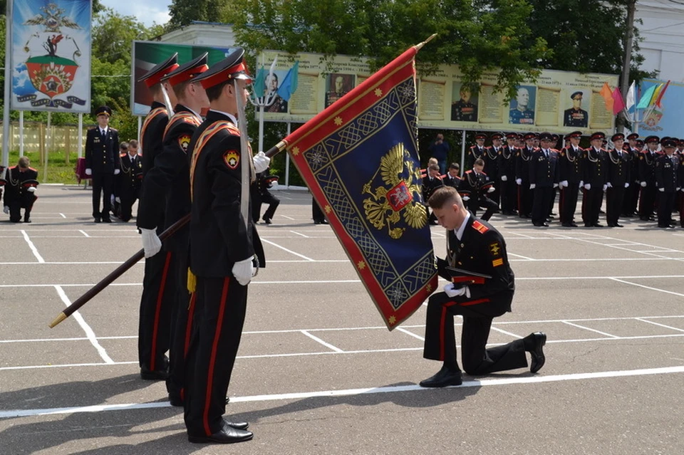
<svg viewBox="0 0 684 455">
<path fill-rule="evenodd" d="M 560 218 L 564 227 L 577 227 L 574 221 L 577 196 L 582 182 L 582 159 L 584 150 L 579 147 L 581 131 L 569 134 L 570 145 L 561 150 L 559 159 L 559 187 L 561 188 Z"/>
</svg>

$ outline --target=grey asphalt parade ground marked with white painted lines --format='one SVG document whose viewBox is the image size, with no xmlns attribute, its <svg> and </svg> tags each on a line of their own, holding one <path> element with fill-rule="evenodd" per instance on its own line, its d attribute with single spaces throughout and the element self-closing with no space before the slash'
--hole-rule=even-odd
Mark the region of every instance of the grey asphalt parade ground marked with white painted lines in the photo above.
<svg viewBox="0 0 684 455">
<path fill-rule="evenodd" d="M 422 389 L 440 368 L 425 306 L 390 333 L 309 193 L 277 192 L 227 406 L 254 439 L 198 445 L 165 385 L 140 380 L 142 262 L 48 328 L 141 248 L 135 221 L 94 224 L 83 187 L 38 194 L 33 223 L 0 221 L 2 455 L 684 453 L 684 229 L 495 215 L 516 293 L 489 341 L 543 330 L 546 365 Z"/>
</svg>

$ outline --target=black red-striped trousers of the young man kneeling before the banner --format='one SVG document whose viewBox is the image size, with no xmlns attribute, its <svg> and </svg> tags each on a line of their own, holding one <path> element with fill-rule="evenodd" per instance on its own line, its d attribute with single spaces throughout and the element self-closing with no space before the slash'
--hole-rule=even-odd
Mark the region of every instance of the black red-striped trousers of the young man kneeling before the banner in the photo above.
<svg viewBox="0 0 684 455">
<path fill-rule="evenodd" d="M 456 361 L 454 315 L 462 315 L 461 357 L 467 374 L 487 375 L 527 367 L 522 340 L 487 349 L 492 320 L 504 312 L 482 300 L 488 299 L 450 298 L 443 292 L 432 294 L 427 303 L 423 357 Z"/>
</svg>

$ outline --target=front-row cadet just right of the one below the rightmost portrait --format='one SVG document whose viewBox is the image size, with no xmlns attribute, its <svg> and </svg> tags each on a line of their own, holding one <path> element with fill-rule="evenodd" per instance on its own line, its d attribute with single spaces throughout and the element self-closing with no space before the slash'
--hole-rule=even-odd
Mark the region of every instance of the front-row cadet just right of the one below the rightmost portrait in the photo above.
<svg viewBox="0 0 684 455">
<path fill-rule="evenodd" d="M 582 196 L 582 221 L 584 227 L 603 227 L 598 215 L 603 203 L 603 192 L 608 182 L 606 150 L 601 147 L 606 137 L 603 132 L 591 135 L 591 147 L 584 150 L 582 168 L 584 172 L 584 194 Z"/>
</svg>

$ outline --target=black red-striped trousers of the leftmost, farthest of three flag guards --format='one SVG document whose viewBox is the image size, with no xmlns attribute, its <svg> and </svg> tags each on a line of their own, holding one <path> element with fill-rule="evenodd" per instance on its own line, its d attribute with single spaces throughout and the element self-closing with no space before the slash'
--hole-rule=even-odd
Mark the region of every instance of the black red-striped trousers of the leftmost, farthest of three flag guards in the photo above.
<svg viewBox="0 0 684 455">
<path fill-rule="evenodd" d="M 140 367 L 159 370 L 170 347 L 174 300 L 171 251 L 160 251 L 145 259 L 142 278 L 140 323 L 138 325 L 138 362 Z"/>
</svg>

